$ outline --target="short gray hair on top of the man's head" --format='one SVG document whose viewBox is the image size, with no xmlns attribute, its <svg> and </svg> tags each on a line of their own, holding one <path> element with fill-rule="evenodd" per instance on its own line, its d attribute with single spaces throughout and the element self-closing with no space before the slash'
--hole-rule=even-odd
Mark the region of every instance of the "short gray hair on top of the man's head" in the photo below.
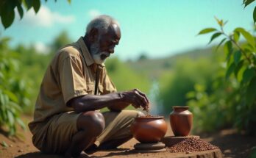
<svg viewBox="0 0 256 158">
<path fill-rule="evenodd" d="M 118 21 L 109 15 L 99 15 L 94 18 L 86 27 L 86 33 L 89 33 L 91 29 L 96 28 L 99 32 L 106 33 L 110 24 L 116 24 L 119 27 Z"/>
</svg>

